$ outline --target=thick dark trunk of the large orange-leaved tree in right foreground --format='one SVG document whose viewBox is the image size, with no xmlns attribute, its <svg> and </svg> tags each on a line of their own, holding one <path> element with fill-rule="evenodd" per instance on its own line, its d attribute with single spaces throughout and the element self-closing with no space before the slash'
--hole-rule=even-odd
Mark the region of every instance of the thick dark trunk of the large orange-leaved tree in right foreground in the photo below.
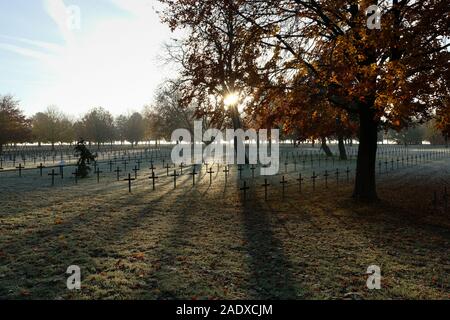
<svg viewBox="0 0 450 320">
<path fill-rule="evenodd" d="M 373 108 L 365 105 L 360 110 L 359 148 L 353 198 L 373 202 L 378 200 L 375 178 L 378 121 L 375 119 Z"/>
</svg>

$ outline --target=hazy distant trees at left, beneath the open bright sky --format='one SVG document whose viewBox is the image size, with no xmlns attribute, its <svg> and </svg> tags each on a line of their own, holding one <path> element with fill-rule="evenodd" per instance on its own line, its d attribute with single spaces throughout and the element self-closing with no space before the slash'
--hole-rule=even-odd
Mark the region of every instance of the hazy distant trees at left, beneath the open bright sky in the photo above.
<svg viewBox="0 0 450 320">
<path fill-rule="evenodd" d="M 12 143 L 36 142 L 54 147 L 57 143 L 71 144 L 83 138 L 98 146 L 115 141 L 136 145 L 140 141 L 167 137 L 167 130 L 153 117 L 159 115 L 151 107 L 144 108 L 142 114 L 117 117 L 103 108 L 94 108 L 80 120 L 72 121 L 52 106 L 27 118 L 14 97 L 0 96 L 0 153 L 5 144 Z"/>
</svg>

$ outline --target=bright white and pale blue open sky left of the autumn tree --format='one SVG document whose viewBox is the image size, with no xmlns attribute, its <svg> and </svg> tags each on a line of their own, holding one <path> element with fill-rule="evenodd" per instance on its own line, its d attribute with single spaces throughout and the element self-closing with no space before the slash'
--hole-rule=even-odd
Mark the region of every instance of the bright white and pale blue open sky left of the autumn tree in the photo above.
<svg viewBox="0 0 450 320">
<path fill-rule="evenodd" d="M 140 111 L 174 76 L 156 0 L 0 0 L 0 95 L 31 116 L 57 106 Z"/>
</svg>

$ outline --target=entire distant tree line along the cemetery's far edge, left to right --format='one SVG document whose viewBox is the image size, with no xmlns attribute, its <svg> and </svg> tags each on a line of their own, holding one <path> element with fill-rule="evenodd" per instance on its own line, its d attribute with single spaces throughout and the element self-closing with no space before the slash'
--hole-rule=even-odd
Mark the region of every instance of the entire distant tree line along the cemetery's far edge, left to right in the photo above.
<svg viewBox="0 0 450 320">
<path fill-rule="evenodd" d="M 57 143 L 69 143 L 83 138 L 98 146 L 105 143 L 128 141 L 136 145 L 141 141 L 159 141 L 171 139 L 171 134 L 179 128 L 187 129 L 194 135 L 193 120 L 199 118 L 196 114 L 197 106 L 183 107 L 180 101 L 181 93 L 177 82 L 167 82 L 160 87 L 156 95 L 154 106 L 144 107 L 141 113 L 135 112 L 130 116 L 119 115 L 113 117 L 103 108 L 94 108 L 78 121 L 71 121 L 68 116 L 56 107 L 48 107 L 44 112 L 38 112 L 27 119 L 19 109 L 18 101 L 12 96 L 0 96 L 0 152 L 3 145 L 8 143 L 37 142 L 49 143 L 53 147 Z M 311 128 L 318 126 L 320 116 L 315 115 L 316 122 L 310 120 Z M 207 116 L 200 117 L 203 128 L 210 128 L 217 120 Z M 450 131 L 442 127 L 444 121 L 440 118 L 433 119 L 424 124 L 416 124 L 402 130 L 387 130 L 380 132 L 378 140 L 395 141 L 398 144 L 421 144 L 428 141 L 431 144 L 443 145 L 448 143 Z M 220 127 L 231 125 L 231 121 L 222 116 Z M 323 123 L 321 123 L 323 125 Z M 322 148 L 327 152 L 326 138 L 338 140 L 354 139 L 355 131 L 347 129 L 343 135 L 333 135 L 333 127 L 337 123 L 329 123 L 330 134 L 324 136 L 308 135 L 300 129 L 283 134 L 284 139 L 294 141 L 319 140 Z M 312 129 L 311 129 L 312 130 Z M 342 141 L 343 143 L 343 141 Z"/>
</svg>

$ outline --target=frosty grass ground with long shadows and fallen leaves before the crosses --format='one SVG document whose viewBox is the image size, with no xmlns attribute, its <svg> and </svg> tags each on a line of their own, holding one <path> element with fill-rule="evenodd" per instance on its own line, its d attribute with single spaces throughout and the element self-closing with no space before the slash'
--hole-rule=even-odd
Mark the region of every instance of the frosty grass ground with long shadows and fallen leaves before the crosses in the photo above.
<svg viewBox="0 0 450 320">
<path fill-rule="evenodd" d="M 244 199 L 236 167 L 226 184 L 213 169 L 212 185 L 202 168 L 193 187 L 186 169 L 174 190 L 158 165 L 156 191 L 146 170 L 131 194 L 106 167 L 99 184 L 53 188 L 38 172 L 1 176 L 0 298 L 450 299 L 450 212 L 432 205 L 448 158 L 380 175 L 371 206 L 344 177 L 299 193 L 292 171 L 284 199 L 270 179 L 268 201 L 247 172 Z M 66 288 L 70 265 L 80 291 Z M 370 265 L 380 290 L 366 287 Z"/>
</svg>

